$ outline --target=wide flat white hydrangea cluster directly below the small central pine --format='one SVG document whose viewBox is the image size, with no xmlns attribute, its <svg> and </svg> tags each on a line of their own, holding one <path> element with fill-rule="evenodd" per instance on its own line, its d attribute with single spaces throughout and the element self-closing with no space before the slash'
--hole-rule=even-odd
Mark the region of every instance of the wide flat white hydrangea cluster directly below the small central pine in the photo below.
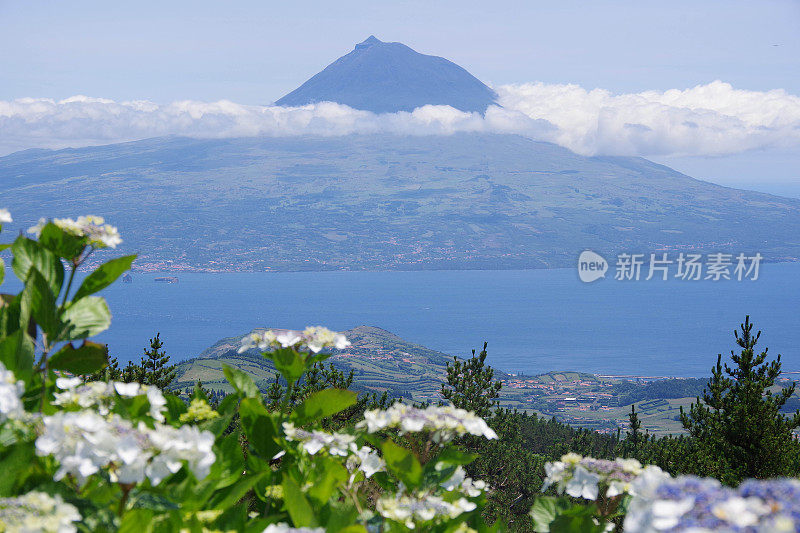
<svg viewBox="0 0 800 533">
<path fill-rule="evenodd" d="M 466 434 L 497 438 L 497 433 L 481 417 L 452 405 L 430 405 L 420 409 L 397 402 L 386 410 L 366 411 L 359 427 L 366 427 L 369 433 L 390 427 L 399 429 L 400 434 L 430 431 L 433 441 L 438 443 Z"/>
</svg>

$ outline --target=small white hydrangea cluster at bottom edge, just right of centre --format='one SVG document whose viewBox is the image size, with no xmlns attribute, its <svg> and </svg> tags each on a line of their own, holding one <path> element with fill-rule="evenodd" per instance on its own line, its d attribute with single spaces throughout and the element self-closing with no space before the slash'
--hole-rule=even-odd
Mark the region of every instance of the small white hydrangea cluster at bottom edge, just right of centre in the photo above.
<svg viewBox="0 0 800 533">
<path fill-rule="evenodd" d="M 394 497 L 381 498 L 376 508 L 384 518 L 414 529 L 419 523 L 457 518 L 463 513 L 474 511 L 477 505 L 466 498 L 448 502 L 440 496 L 425 493 L 414 496 L 397 494 Z"/>
</svg>

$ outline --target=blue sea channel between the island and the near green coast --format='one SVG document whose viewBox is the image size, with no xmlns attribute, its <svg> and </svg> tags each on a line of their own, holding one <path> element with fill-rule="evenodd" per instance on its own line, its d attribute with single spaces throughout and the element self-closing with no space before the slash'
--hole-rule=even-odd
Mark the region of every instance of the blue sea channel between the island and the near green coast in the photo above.
<svg viewBox="0 0 800 533">
<path fill-rule="evenodd" d="M 102 293 L 113 323 L 98 340 L 121 361 L 138 359 L 156 332 L 174 361 L 255 327 L 366 324 L 453 355 L 487 341 L 489 362 L 509 372 L 706 376 L 749 314 L 760 345 L 800 371 L 798 263 L 720 282 L 585 284 L 574 269 L 157 276 L 134 274 Z"/>
</svg>

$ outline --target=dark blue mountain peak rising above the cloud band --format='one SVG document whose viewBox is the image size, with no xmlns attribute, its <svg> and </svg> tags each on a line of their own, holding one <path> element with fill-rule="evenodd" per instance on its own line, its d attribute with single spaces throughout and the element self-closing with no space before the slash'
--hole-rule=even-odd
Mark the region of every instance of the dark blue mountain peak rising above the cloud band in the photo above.
<svg viewBox="0 0 800 533">
<path fill-rule="evenodd" d="M 483 113 L 496 98 L 492 89 L 452 61 L 370 35 L 276 103 L 337 102 L 374 113 L 434 104 Z"/>
</svg>

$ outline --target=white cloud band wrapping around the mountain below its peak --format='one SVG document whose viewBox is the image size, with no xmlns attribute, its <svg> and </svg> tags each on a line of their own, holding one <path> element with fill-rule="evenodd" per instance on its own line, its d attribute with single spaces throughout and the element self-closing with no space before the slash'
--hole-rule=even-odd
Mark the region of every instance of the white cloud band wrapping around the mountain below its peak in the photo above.
<svg viewBox="0 0 800 533">
<path fill-rule="evenodd" d="M 800 148 L 800 97 L 778 89 L 737 90 L 713 82 L 686 90 L 614 95 L 577 85 L 495 87 L 502 107 L 485 116 L 448 106 L 376 115 L 321 103 L 284 108 L 227 100 L 115 102 L 0 101 L 0 153 L 157 137 L 248 137 L 459 131 L 518 133 L 581 154 L 724 155 L 759 148 Z"/>
</svg>

